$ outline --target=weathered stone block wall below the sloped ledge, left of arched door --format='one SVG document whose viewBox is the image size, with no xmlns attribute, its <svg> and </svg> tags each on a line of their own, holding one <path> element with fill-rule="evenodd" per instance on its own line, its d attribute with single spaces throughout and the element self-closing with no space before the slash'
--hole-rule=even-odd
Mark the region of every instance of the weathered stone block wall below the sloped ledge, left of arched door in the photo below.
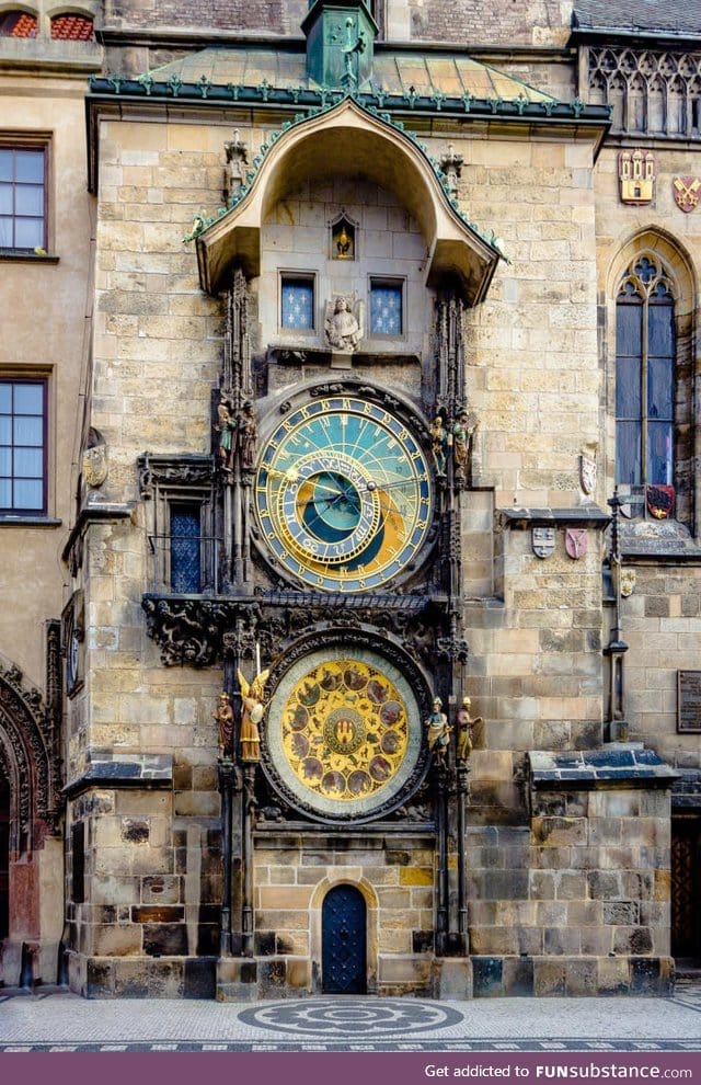
<svg viewBox="0 0 701 1085">
<path fill-rule="evenodd" d="M 206 971 L 188 959 L 218 952 L 221 835 L 218 818 L 193 816 L 193 792 L 179 788 L 186 783 L 184 775 L 181 765 L 173 790 L 103 786 L 71 804 L 71 825 L 84 826 L 79 893 L 84 900 L 72 899 L 79 861 L 73 845 L 69 970 L 71 985 L 85 995 L 193 996 L 196 985 L 206 983 Z M 215 814 L 218 795 L 211 783 L 207 780 L 207 791 Z M 153 967 L 162 958 L 183 960 L 171 962 L 164 976 Z M 214 969 L 208 974 L 211 984 Z"/>
</svg>

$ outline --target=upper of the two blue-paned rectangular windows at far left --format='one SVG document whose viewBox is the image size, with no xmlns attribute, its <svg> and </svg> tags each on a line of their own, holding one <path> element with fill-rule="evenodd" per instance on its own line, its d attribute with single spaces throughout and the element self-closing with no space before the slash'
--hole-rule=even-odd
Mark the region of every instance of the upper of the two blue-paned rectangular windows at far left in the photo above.
<svg viewBox="0 0 701 1085">
<path fill-rule="evenodd" d="M 45 250 L 46 217 L 46 147 L 0 144 L 0 250 Z"/>
</svg>

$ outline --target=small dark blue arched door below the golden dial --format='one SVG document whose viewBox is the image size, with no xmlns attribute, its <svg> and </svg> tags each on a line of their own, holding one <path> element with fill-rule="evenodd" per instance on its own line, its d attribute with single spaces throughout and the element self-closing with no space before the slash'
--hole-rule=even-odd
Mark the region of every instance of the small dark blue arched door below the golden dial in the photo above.
<svg viewBox="0 0 701 1085">
<path fill-rule="evenodd" d="M 334 886 L 321 910 L 321 979 L 324 994 L 367 992 L 367 912 L 355 886 Z"/>
</svg>

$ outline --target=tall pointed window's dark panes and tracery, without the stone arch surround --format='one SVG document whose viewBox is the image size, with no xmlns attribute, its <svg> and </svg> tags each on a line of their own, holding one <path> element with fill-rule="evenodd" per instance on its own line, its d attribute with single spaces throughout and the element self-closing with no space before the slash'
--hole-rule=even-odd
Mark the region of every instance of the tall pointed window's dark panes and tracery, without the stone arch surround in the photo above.
<svg viewBox="0 0 701 1085">
<path fill-rule="evenodd" d="M 616 307 L 616 481 L 675 481 L 675 294 L 662 261 L 637 256 Z"/>
</svg>

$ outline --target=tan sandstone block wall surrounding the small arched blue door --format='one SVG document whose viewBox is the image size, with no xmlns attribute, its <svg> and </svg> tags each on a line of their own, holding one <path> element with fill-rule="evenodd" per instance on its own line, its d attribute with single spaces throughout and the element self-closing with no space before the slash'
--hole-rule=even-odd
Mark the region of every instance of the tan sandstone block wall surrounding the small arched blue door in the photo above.
<svg viewBox="0 0 701 1085">
<path fill-rule="evenodd" d="M 321 906 L 357 887 L 367 910 L 368 993 L 433 993 L 435 855 L 429 835 L 255 836 L 255 961 L 221 961 L 219 997 L 321 990 Z"/>
</svg>

